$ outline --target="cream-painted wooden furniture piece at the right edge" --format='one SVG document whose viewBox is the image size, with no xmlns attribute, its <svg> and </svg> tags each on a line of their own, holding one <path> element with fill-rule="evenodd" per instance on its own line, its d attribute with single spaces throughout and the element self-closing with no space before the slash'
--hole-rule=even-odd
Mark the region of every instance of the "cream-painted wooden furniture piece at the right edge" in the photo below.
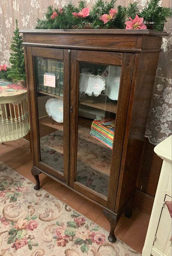
<svg viewBox="0 0 172 256">
<path fill-rule="evenodd" d="M 154 151 L 163 159 L 163 166 L 142 256 L 171 256 L 172 219 L 168 208 L 172 201 L 172 136 L 158 144 Z"/>
</svg>

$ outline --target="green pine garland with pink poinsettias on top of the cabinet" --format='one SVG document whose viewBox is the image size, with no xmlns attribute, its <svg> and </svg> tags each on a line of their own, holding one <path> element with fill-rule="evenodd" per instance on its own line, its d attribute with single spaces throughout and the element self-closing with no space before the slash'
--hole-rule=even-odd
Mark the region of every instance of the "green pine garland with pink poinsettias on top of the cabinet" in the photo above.
<svg viewBox="0 0 172 256">
<path fill-rule="evenodd" d="M 134 2 L 128 4 L 127 7 L 118 5 L 115 8 L 116 0 L 110 0 L 110 2 L 97 0 L 93 4 L 89 15 L 78 15 L 84 9 L 89 9 L 86 6 L 85 0 L 80 0 L 78 7 L 69 3 L 62 9 L 48 7 L 45 14 L 45 18 L 42 20 L 37 19 L 36 29 L 72 29 L 72 28 L 94 28 L 94 29 L 123 29 L 126 28 L 126 21 L 134 19 L 136 15 L 139 18 L 143 18 L 143 24 L 146 26 L 152 24 L 153 30 L 162 31 L 164 23 L 167 22 L 167 18 L 170 18 L 171 8 L 160 7 L 160 0 L 149 0 L 146 7 L 142 10 L 139 9 L 139 4 Z M 111 12 L 113 13 L 110 13 Z M 86 11 L 86 10 L 85 10 Z M 54 14 L 53 14 L 54 13 Z M 75 13 L 75 15 L 73 14 Z M 100 18 L 106 14 L 108 19 L 103 22 Z M 138 27 L 136 28 L 138 29 Z"/>
</svg>

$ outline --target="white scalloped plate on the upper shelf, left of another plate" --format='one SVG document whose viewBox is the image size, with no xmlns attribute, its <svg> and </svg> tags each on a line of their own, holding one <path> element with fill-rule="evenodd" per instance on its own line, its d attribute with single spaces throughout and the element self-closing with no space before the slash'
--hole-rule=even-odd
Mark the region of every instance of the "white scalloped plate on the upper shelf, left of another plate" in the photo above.
<svg viewBox="0 0 172 256">
<path fill-rule="evenodd" d="M 105 79 L 100 75 L 92 75 L 81 73 L 79 78 L 79 90 L 85 92 L 89 96 L 94 93 L 94 96 L 99 96 L 102 90 L 105 90 Z"/>
</svg>

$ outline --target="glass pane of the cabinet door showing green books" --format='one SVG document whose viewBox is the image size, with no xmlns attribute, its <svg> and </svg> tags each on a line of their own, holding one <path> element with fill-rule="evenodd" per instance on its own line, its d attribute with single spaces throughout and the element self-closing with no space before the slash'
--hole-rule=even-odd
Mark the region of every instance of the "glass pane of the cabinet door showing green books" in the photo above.
<svg viewBox="0 0 172 256">
<path fill-rule="evenodd" d="M 64 172 L 63 61 L 35 57 L 40 161 Z"/>
</svg>

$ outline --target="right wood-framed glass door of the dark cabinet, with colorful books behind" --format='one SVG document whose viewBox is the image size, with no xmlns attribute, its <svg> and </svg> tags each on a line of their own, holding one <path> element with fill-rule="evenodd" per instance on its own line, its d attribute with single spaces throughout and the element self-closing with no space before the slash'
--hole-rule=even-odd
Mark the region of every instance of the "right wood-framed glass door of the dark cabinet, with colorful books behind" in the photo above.
<svg viewBox="0 0 172 256">
<path fill-rule="evenodd" d="M 104 206 L 115 200 L 118 186 L 133 61 L 133 54 L 77 51 L 70 185 Z"/>
</svg>

